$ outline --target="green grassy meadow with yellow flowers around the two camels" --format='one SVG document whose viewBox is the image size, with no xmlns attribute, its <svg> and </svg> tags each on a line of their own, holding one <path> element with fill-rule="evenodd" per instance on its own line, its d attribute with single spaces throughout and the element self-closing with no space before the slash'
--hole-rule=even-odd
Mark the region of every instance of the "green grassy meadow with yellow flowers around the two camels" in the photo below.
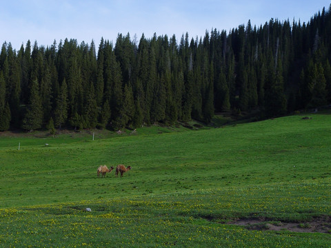
<svg viewBox="0 0 331 248">
<path fill-rule="evenodd" d="M 0 247 L 331 247 L 331 115 L 302 117 L 1 134 Z"/>
</svg>

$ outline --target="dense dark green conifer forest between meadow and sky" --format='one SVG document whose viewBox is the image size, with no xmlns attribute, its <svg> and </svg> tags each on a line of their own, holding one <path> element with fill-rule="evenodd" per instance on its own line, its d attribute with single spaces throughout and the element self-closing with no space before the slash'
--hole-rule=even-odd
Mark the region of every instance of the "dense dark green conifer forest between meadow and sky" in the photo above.
<svg viewBox="0 0 331 248">
<path fill-rule="evenodd" d="M 0 130 L 138 127 L 215 112 L 261 118 L 331 103 L 331 6 L 308 23 L 271 19 L 179 41 L 119 34 L 0 53 Z"/>
</svg>

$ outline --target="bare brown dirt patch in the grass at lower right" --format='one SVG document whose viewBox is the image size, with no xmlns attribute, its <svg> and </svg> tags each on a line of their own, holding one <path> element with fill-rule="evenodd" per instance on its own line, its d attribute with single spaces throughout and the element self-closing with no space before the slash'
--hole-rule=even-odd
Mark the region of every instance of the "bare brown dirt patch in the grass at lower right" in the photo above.
<svg viewBox="0 0 331 248">
<path fill-rule="evenodd" d="M 250 230 L 259 231 L 294 231 L 294 232 L 319 232 L 324 234 L 331 234 L 331 217 L 318 217 L 312 218 L 310 221 L 303 223 L 290 223 L 278 220 L 265 220 L 263 218 L 254 219 L 239 219 L 231 220 L 227 223 L 228 225 L 239 225 Z"/>
</svg>

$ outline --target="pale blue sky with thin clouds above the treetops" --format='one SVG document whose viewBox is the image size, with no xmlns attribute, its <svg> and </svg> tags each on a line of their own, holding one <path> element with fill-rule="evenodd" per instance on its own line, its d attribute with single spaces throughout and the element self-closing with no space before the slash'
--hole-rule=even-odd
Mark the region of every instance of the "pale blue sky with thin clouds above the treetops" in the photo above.
<svg viewBox="0 0 331 248">
<path fill-rule="evenodd" d="M 188 32 L 203 37 L 206 30 L 232 30 L 239 25 L 259 27 L 271 18 L 307 23 L 319 11 L 329 10 L 331 0 L 1 0 L 0 45 L 16 50 L 33 44 L 45 47 L 60 40 L 77 39 L 96 46 L 103 39 L 116 42 L 119 33 L 137 41 L 176 35 L 177 43 Z"/>
</svg>

